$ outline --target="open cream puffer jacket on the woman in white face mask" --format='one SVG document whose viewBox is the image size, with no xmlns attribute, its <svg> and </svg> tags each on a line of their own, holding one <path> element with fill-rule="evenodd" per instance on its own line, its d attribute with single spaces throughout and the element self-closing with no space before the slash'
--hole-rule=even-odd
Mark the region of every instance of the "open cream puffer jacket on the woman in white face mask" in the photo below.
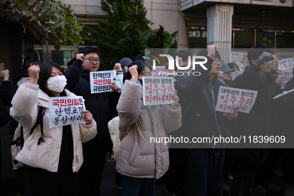
<svg viewBox="0 0 294 196">
<path fill-rule="evenodd" d="M 66 89 L 65 92 L 67 96 L 75 96 Z M 62 126 L 49 128 L 48 98 L 48 95 L 39 89 L 39 85 L 25 83 L 17 89 L 11 101 L 10 115 L 23 126 L 24 145 L 15 159 L 31 167 L 57 172 L 63 128 Z M 41 137 L 40 125 L 29 135 L 36 122 L 38 105 L 46 108 L 43 116 L 45 142 L 41 142 L 40 145 L 38 145 L 38 139 Z M 84 161 L 82 142 L 87 142 L 96 136 L 96 126 L 94 119 L 89 125 L 80 123 L 71 125 L 74 142 L 73 172 L 78 172 L 81 168 Z"/>
</svg>

